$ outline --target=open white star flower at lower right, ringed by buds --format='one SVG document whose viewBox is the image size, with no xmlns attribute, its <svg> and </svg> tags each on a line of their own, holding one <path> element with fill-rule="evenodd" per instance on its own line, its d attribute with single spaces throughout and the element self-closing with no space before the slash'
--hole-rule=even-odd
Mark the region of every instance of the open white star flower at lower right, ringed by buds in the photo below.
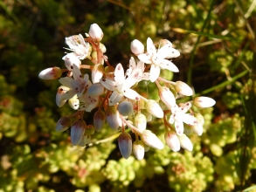
<svg viewBox="0 0 256 192">
<path fill-rule="evenodd" d="M 197 119 L 192 116 L 190 113 L 187 113 L 190 110 L 191 103 L 187 102 L 181 104 L 180 106 L 171 107 L 171 115 L 170 115 L 170 124 L 175 125 L 176 134 L 178 136 L 183 135 L 184 126 L 183 123 L 188 124 L 189 126 L 197 125 Z"/>
</svg>

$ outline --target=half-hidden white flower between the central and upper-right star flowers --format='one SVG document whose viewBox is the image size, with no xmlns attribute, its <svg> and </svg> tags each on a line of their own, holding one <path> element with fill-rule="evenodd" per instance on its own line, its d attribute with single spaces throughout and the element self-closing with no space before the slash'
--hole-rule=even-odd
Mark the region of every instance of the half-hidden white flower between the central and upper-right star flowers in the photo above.
<svg viewBox="0 0 256 192">
<path fill-rule="evenodd" d="M 144 72 L 144 69 L 145 65 L 142 61 L 139 61 L 136 65 L 135 58 L 131 57 L 126 72 L 128 79 L 134 79 L 136 83 L 141 80 L 149 80 L 149 72 Z"/>
</svg>

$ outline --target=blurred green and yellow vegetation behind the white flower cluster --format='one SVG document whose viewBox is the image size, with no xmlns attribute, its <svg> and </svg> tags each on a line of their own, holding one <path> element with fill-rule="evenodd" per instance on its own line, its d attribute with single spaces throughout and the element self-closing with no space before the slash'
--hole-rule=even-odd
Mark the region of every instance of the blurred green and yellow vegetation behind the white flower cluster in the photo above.
<svg viewBox="0 0 256 192">
<path fill-rule="evenodd" d="M 0 191 L 219 192 L 253 186 L 255 6 L 255 0 L 1 0 Z M 59 117 L 72 109 L 55 104 L 58 80 L 43 81 L 38 73 L 65 67 L 65 37 L 84 34 L 93 23 L 104 32 L 112 65 L 128 65 L 135 38 L 167 38 L 181 51 L 173 79 L 217 100 L 201 111 L 204 134 L 190 135 L 193 152 L 164 147 L 150 149 L 142 161 L 125 160 L 109 127 L 86 148 L 73 147 L 68 131 L 55 131 Z M 142 89 L 156 92 L 150 84 Z M 159 122 L 149 129 L 163 138 Z"/>
</svg>

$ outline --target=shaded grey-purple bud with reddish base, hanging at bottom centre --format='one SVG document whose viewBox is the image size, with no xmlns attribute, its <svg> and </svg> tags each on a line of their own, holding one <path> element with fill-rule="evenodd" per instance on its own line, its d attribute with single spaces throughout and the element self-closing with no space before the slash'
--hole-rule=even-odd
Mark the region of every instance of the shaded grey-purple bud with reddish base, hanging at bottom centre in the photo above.
<svg viewBox="0 0 256 192">
<path fill-rule="evenodd" d="M 121 155 L 128 159 L 132 153 L 132 138 L 131 135 L 123 132 L 118 137 L 118 147 L 120 149 Z"/>
</svg>

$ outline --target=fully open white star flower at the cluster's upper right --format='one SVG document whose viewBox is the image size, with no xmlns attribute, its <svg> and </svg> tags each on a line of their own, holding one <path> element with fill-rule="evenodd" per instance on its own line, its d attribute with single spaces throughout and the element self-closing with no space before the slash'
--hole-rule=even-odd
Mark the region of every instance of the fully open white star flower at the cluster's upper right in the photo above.
<svg viewBox="0 0 256 192">
<path fill-rule="evenodd" d="M 170 44 L 163 45 L 158 51 L 151 38 L 147 39 L 147 53 L 138 55 L 138 58 L 146 63 L 151 64 L 150 66 L 150 76 L 149 79 L 151 82 L 155 82 L 159 77 L 161 69 L 167 69 L 171 72 L 179 72 L 176 65 L 174 65 L 170 60 L 165 58 L 175 58 L 179 56 L 179 52 L 171 47 Z"/>
</svg>

